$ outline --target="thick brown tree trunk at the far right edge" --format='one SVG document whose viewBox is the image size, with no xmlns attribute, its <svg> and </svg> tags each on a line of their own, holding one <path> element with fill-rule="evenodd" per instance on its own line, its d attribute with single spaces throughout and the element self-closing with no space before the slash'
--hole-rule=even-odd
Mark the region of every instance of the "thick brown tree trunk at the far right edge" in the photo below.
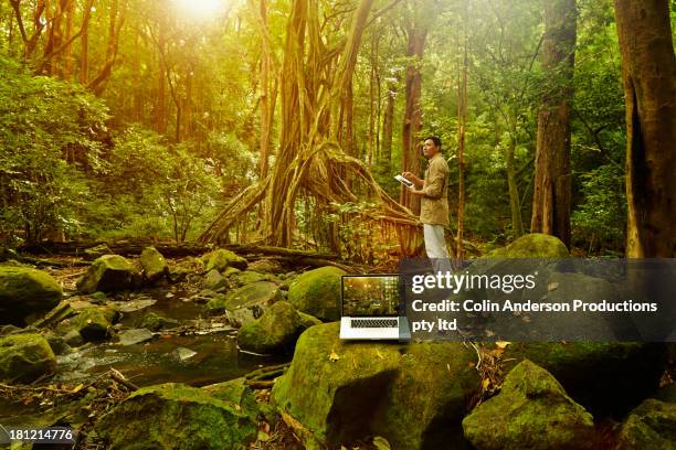
<svg viewBox="0 0 676 450">
<path fill-rule="evenodd" d="M 666 0 L 615 0 L 626 104 L 630 258 L 673 258 L 676 62 Z"/>
</svg>

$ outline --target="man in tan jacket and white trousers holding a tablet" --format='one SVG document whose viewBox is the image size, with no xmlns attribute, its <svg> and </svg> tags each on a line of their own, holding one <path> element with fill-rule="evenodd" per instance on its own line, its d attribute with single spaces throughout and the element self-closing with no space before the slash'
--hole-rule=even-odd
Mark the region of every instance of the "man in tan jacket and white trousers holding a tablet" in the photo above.
<svg viewBox="0 0 676 450">
<path fill-rule="evenodd" d="M 423 154 L 427 159 L 425 178 L 421 180 L 411 172 L 402 173 L 411 181 L 411 193 L 421 195 L 420 222 L 423 223 L 425 251 L 430 259 L 448 259 L 448 249 L 444 238 L 444 227 L 448 225 L 448 164 L 441 154 L 441 139 L 431 136 L 425 139 Z M 418 190 L 416 188 L 422 188 Z M 435 269 L 448 264 L 435 264 Z"/>
</svg>

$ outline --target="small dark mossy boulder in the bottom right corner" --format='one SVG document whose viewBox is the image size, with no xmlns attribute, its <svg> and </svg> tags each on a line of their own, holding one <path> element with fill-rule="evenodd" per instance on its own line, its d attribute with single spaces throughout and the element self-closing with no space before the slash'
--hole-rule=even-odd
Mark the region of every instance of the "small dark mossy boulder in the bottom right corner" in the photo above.
<svg viewBox="0 0 676 450">
<path fill-rule="evenodd" d="M 622 424 L 617 450 L 676 449 L 676 404 L 648 398 Z"/>
</svg>

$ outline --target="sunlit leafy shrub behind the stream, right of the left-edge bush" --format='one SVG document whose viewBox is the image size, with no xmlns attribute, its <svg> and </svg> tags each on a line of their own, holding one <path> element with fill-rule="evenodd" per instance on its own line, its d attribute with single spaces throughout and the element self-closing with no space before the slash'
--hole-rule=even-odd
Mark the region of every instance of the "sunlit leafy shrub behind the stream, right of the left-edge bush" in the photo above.
<svg viewBox="0 0 676 450">
<path fill-rule="evenodd" d="M 208 161 L 193 154 L 191 142 L 167 146 L 154 131 L 129 127 L 114 139 L 108 158 L 109 169 L 98 182 L 104 195 L 91 222 L 103 231 L 114 218 L 118 226 L 106 233 L 109 237 L 186 240 L 194 222 L 215 206 L 218 178 Z M 106 214 L 96 215 L 102 211 Z"/>
</svg>

